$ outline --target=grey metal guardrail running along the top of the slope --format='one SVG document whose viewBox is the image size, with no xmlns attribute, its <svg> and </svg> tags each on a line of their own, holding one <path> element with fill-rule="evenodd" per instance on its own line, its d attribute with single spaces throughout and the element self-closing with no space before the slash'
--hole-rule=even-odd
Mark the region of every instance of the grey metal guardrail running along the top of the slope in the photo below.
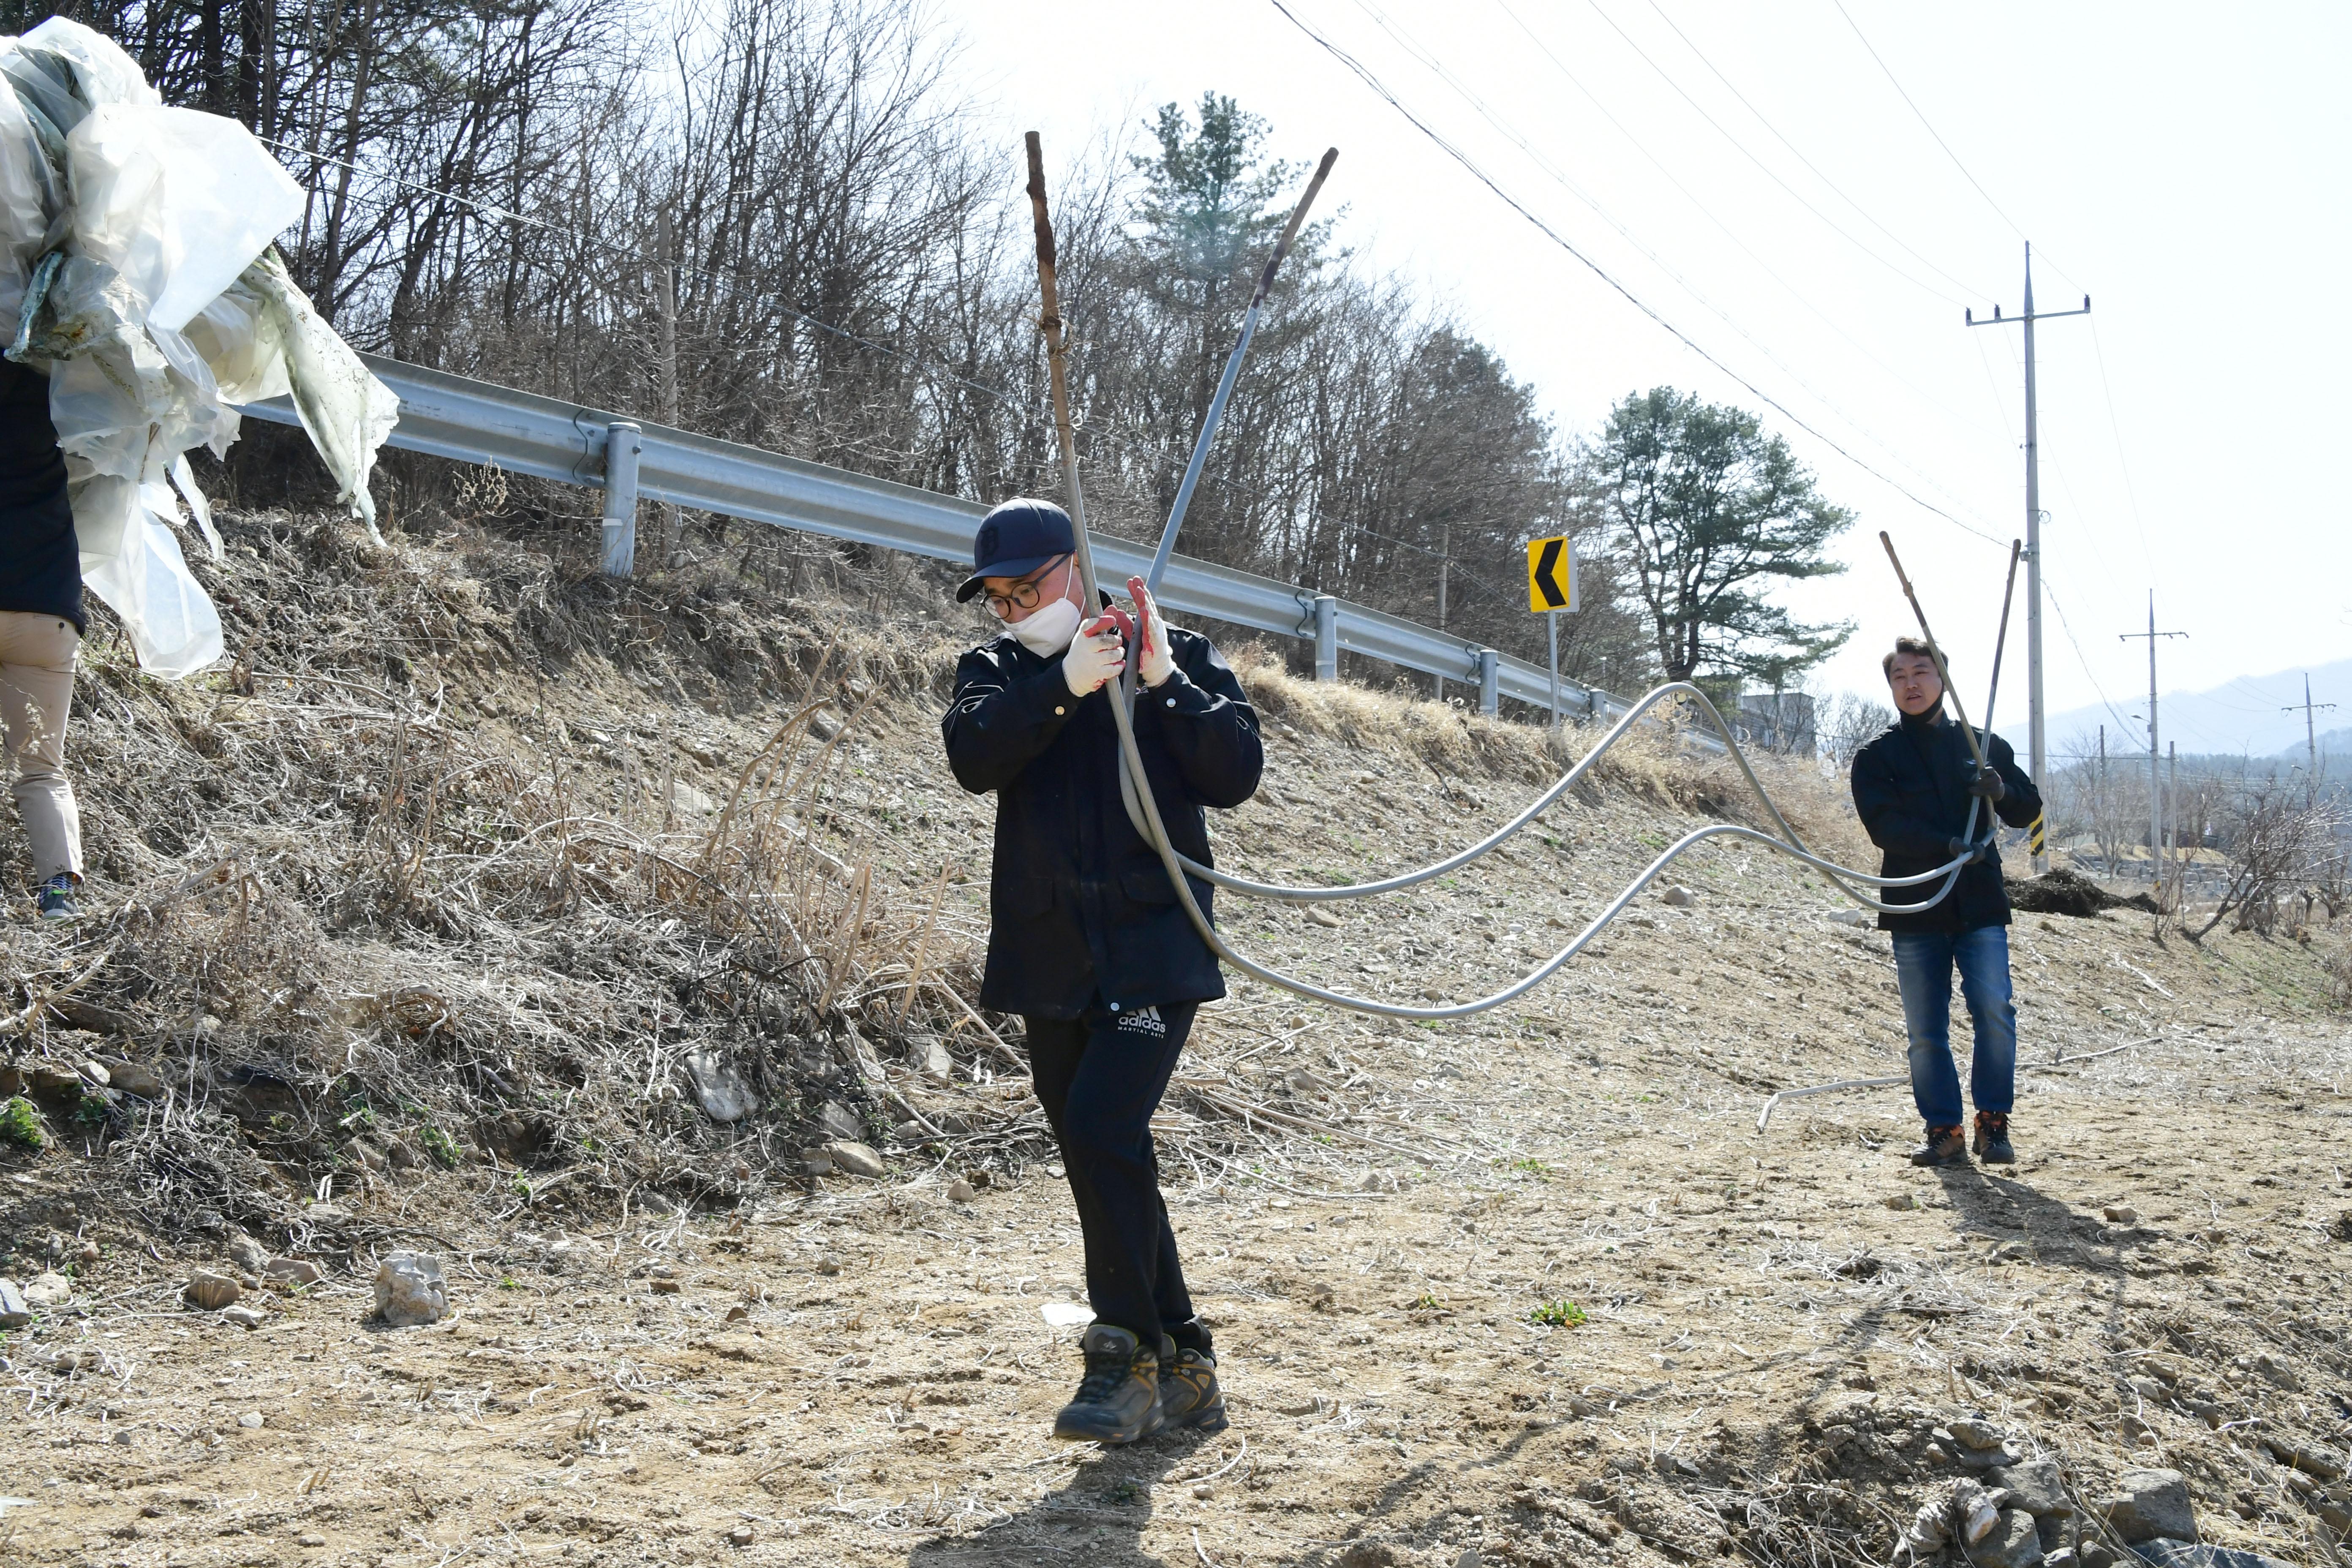
<svg viewBox="0 0 2352 1568">
<path fill-rule="evenodd" d="M 623 447 L 614 463 L 619 484 L 604 508 L 607 559 L 621 571 L 628 569 L 633 552 L 635 501 L 668 501 L 699 512 L 948 562 L 971 559 L 971 534 L 988 510 L 974 501 L 804 463 L 760 447 L 647 425 L 607 409 L 517 393 L 381 355 L 360 357 L 400 397 L 400 425 L 393 428 L 390 444 L 407 451 L 496 463 L 508 473 L 607 489 L 607 449 L 614 430 L 621 430 L 635 447 L 635 498 L 626 494 L 630 454 Z M 245 411 L 285 425 L 299 423 L 294 404 L 282 397 L 249 404 Z M 1091 538 L 1110 581 L 1141 576 L 1150 564 L 1150 545 L 1101 534 Z M 1550 703 L 1552 677 L 1541 665 L 1343 599 L 1334 602 L 1336 614 L 1317 614 L 1319 595 L 1249 571 L 1178 555 L 1169 559 L 1160 597 L 1183 616 L 1209 616 L 1277 637 L 1317 642 L 1322 668 L 1329 668 L 1336 649 L 1348 649 L 1406 670 L 1475 684 L 1489 712 L 1496 696 L 1536 708 Z M 1606 722 L 1628 710 L 1625 701 L 1573 682 L 1559 682 L 1559 693 L 1569 717 Z"/>
</svg>

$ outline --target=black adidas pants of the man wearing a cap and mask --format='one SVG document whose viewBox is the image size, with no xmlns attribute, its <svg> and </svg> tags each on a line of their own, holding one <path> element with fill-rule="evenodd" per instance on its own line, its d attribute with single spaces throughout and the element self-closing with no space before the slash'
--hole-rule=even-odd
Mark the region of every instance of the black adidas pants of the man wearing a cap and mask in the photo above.
<svg viewBox="0 0 2352 1568">
<path fill-rule="evenodd" d="M 1209 1328 L 1176 1262 L 1176 1232 L 1160 1201 L 1152 1112 L 1192 1032 L 1197 1001 L 1112 1013 L 1096 997 L 1077 1018 L 1023 1018 L 1037 1103 L 1054 1124 L 1061 1164 L 1087 1237 L 1087 1300 L 1101 1324 L 1157 1347 L 1214 1354 Z"/>
</svg>

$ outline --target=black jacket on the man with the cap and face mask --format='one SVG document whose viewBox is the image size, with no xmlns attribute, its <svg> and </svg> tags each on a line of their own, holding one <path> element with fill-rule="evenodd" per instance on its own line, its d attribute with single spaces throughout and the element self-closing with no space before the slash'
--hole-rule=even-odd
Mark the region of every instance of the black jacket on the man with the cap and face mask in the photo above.
<svg viewBox="0 0 2352 1568">
<path fill-rule="evenodd" d="M 1176 672 L 1136 703 L 1136 745 L 1169 842 L 1209 865 L 1202 806 L 1240 806 L 1265 752 L 1242 682 L 1209 639 L 1169 630 Z M 981 1006 L 1077 1018 L 1101 992 L 1122 1009 L 1225 994 L 1216 954 L 1185 919 L 1167 867 L 1120 806 L 1117 684 L 1075 698 L 1061 656 L 1011 635 L 955 665 L 938 722 L 948 766 L 974 795 L 997 792 Z M 1209 914 L 1209 884 L 1188 877 Z"/>
</svg>

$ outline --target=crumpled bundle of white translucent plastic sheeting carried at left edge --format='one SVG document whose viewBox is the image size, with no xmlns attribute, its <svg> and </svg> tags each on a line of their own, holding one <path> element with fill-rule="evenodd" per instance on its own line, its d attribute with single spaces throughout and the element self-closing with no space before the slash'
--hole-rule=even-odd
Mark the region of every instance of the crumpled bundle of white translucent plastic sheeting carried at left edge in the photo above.
<svg viewBox="0 0 2352 1568">
<path fill-rule="evenodd" d="M 0 331 L 12 360 L 49 369 L 82 583 L 153 675 L 221 656 L 174 524 L 186 505 L 219 557 L 186 454 L 228 451 L 233 404 L 292 395 L 374 529 L 367 477 L 400 400 L 270 249 L 301 202 L 242 125 L 162 106 L 99 33 L 52 16 L 0 38 Z"/>
</svg>

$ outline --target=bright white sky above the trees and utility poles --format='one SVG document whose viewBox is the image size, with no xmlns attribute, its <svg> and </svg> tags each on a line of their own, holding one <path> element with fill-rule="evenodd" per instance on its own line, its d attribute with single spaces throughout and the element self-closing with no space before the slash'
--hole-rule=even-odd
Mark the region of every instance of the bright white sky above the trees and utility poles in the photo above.
<svg viewBox="0 0 2352 1568">
<path fill-rule="evenodd" d="M 1225 92 L 1284 158 L 1336 143 L 1341 240 L 1421 280 L 1564 430 L 1661 383 L 1762 414 L 1860 512 L 1851 571 L 1795 599 L 1860 623 L 1825 686 L 1884 691 L 1877 656 L 1910 628 L 1886 529 L 1983 689 L 2025 515 L 2023 341 L 1962 308 L 2016 315 L 2027 237 L 2037 306 L 2096 310 L 2037 329 L 2051 710 L 2145 710 L 2145 644 L 2117 632 L 2150 590 L 2190 632 L 2161 649 L 2166 691 L 2352 649 L 2352 7 L 1284 5 L 1729 369 L 1272 0 L 943 0 L 941 21 L 1009 172 L 1023 129 L 1075 160 Z M 2023 614 L 2011 656 L 1997 722 L 2023 733 Z"/>
</svg>

